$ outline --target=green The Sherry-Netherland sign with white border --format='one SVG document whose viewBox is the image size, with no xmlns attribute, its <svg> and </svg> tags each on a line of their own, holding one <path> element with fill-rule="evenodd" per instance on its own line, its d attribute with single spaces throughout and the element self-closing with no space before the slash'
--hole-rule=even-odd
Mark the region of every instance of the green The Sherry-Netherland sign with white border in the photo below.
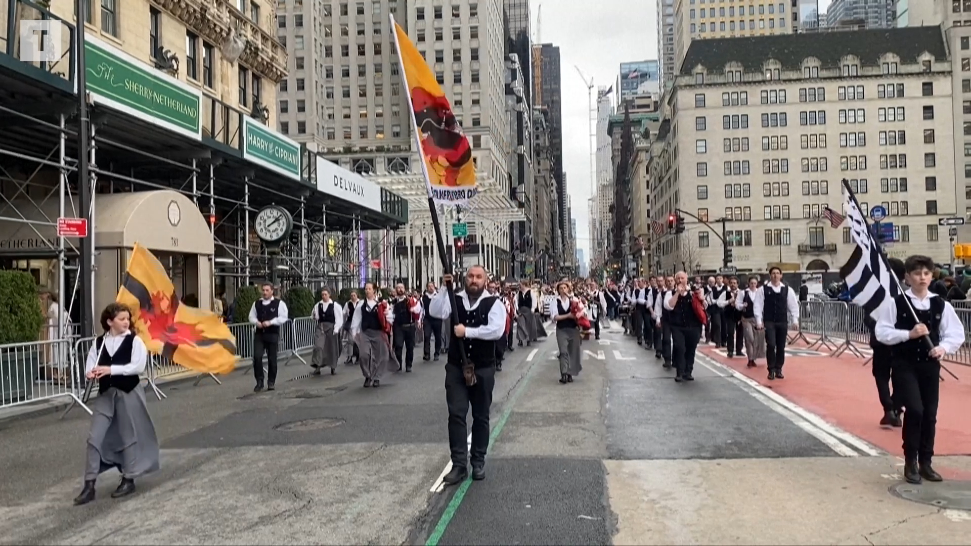
<svg viewBox="0 0 971 546">
<path fill-rule="evenodd" d="M 202 91 L 85 36 L 87 90 L 94 102 L 202 140 Z"/>
</svg>

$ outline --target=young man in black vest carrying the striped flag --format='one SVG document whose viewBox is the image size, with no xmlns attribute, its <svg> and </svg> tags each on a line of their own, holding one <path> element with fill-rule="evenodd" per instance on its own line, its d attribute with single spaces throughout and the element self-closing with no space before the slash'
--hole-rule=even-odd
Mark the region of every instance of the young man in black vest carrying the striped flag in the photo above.
<svg viewBox="0 0 971 546">
<path fill-rule="evenodd" d="M 964 326 L 951 303 L 927 290 L 934 270 L 932 258 L 910 256 L 904 269 L 911 288 L 883 304 L 875 333 L 878 341 L 893 347 L 894 396 L 905 408 L 904 479 L 912 484 L 940 482 L 941 475 L 931 466 L 940 359 L 964 344 Z"/>
</svg>

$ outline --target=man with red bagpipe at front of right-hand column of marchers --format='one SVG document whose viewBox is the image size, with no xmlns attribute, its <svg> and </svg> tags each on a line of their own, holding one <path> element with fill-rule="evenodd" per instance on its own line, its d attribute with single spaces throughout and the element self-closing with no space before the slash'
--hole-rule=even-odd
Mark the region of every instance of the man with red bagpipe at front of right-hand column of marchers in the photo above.
<svg viewBox="0 0 971 546">
<path fill-rule="evenodd" d="M 694 381 L 694 354 L 701 340 L 701 328 L 707 322 L 705 312 L 705 291 L 701 287 L 692 291 L 687 286 L 687 274 L 679 271 L 675 275 L 675 290 L 664 301 L 670 312 L 671 339 L 674 342 L 674 365 L 677 375 L 674 380 Z"/>
</svg>

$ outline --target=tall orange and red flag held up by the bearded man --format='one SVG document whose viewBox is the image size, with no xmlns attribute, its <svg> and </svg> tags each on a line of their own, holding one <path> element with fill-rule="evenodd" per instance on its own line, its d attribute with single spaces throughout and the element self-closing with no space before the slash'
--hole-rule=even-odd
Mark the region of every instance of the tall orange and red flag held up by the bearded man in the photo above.
<svg viewBox="0 0 971 546">
<path fill-rule="evenodd" d="M 394 21 L 393 17 L 391 18 Z M 401 69 L 408 88 L 428 195 L 436 203 L 464 204 L 478 193 L 472 147 L 452 114 L 452 104 L 408 33 L 394 22 Z"/>
</svg>

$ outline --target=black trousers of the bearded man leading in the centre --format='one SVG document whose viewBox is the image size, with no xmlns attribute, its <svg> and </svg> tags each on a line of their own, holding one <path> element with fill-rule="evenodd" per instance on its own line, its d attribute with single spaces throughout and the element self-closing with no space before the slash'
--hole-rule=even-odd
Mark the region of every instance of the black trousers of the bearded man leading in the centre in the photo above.
<svg viewBox="0 0 971 546">
<path fill-rule="evenodd" d="M 445 365 L 445 399 L 449 405 L 449 448 L 452 466 L 468 464 L 468 431 L 466 417 L 472 408 L 472 463 L 484 463 L 488 449 L 488 414 L 495 386 L 495 367 L 476 368 L 476 384 L 465 385 L 460 365 Z"/>
</svg>

